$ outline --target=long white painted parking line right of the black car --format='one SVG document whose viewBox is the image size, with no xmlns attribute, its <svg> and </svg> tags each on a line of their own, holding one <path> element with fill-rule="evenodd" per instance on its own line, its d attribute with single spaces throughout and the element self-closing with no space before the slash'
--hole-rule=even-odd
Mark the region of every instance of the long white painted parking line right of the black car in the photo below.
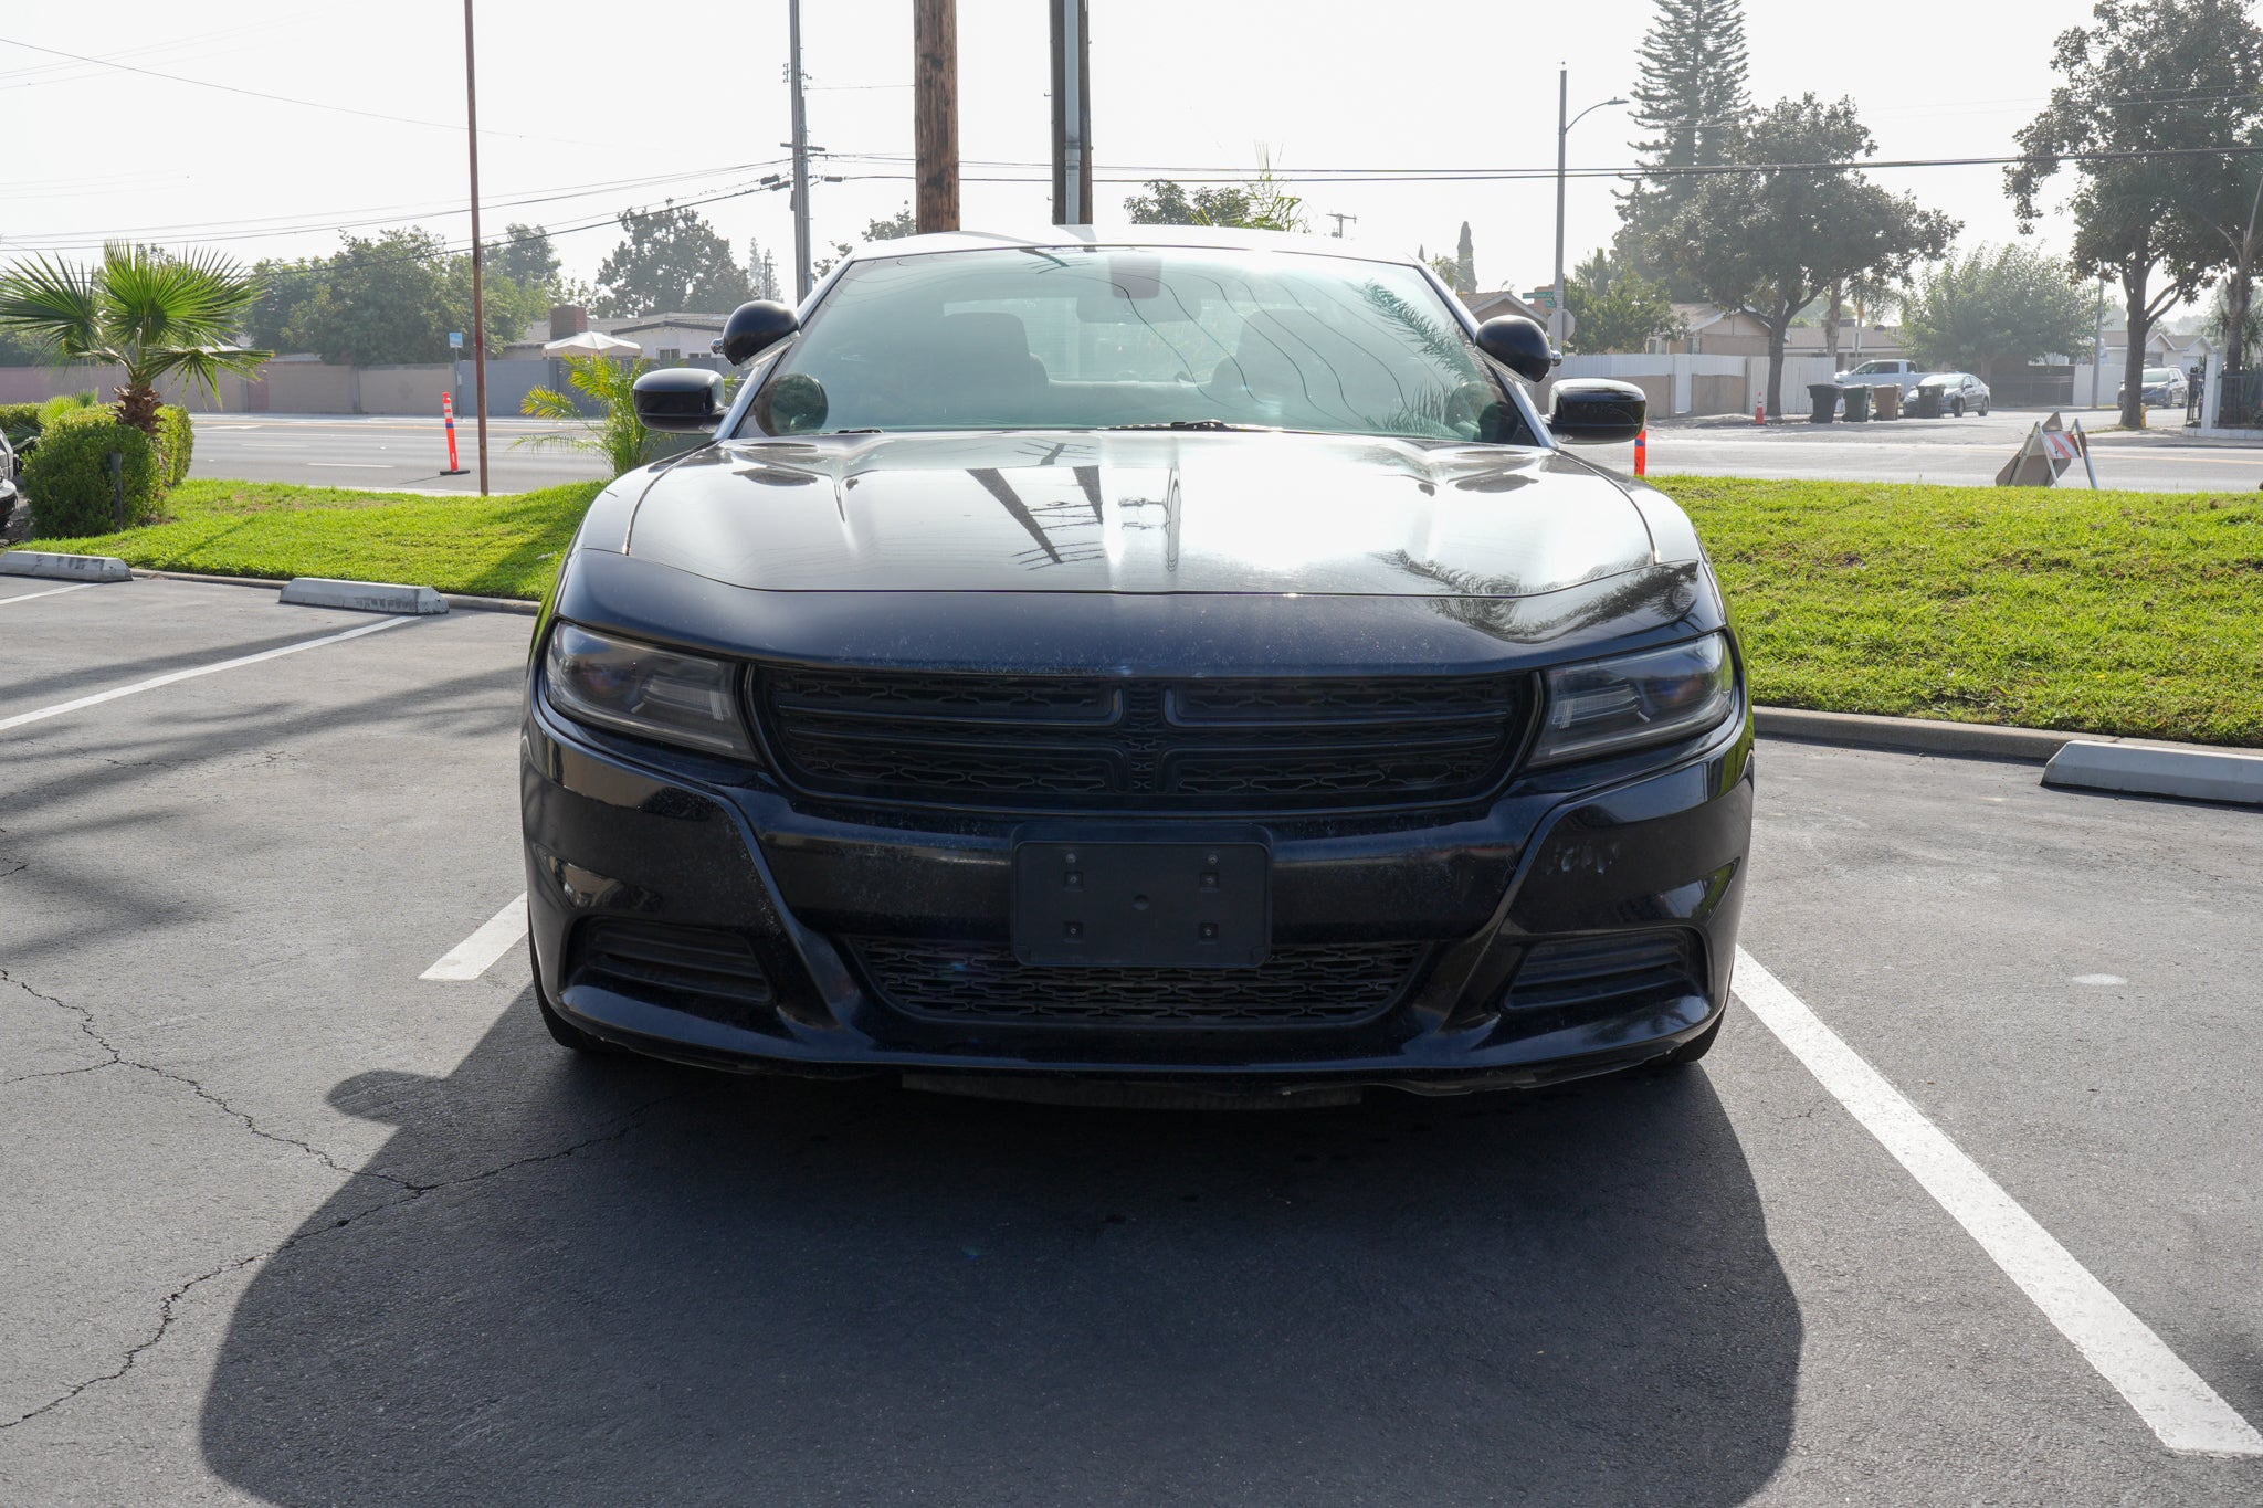
<svg viewBox="0 0 2263 1508">
<path fill-rule="evenodd" d="M 2254 1424 L 1743 947 L 1736 950 L 1736 997 L 1971 1232 L 2161 1445 L 2204 1456 L 2263 1456 L 2263 1433 Z"/>
</svg>

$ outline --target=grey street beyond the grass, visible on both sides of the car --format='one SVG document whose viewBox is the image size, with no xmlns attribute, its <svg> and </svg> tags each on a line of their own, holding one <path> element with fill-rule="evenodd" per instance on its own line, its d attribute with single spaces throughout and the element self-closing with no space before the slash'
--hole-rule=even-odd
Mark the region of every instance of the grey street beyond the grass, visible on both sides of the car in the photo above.
<svg viewBox="0 0 2263 1508">
<path fill-rule="evenodd" d="M 1733 477 L 1835 477 L 1849 482 L 1964 482 L 1985 486 L 2016 450 L 2039 414 L 1996 411 L 1987 418 L 1905 418 L 1892 425 L 1661 423 L 1650 432 L 1650 470 Z M 2105 418 L 2105 416 L 2098 416 Z M 602 475 L 595 459 L 514 445 L 518 436 L 557 432 L 523 418 L 489 425 L 489 486 L 514 493 Z M 471 425 L 457 448 L 473 461 Z M 1616 470 L 1634 470 L 1632 445 L 1582 450 Z M 199 477 L 308 482 L 317 486 L 477 491 L 473 477 L 441 477 L 448 445 L 439 421 L 330 418 L 285 414 L 213 414 L 197 421 Z M 2170 434 L 2098 436 L 2098 479 L 2143 491 L 2236 491 L 2263 484 L 2263 445 L 2188 445 Z M 2082 484 L 2080 470 L 2068 484 Z"/>
</svg>

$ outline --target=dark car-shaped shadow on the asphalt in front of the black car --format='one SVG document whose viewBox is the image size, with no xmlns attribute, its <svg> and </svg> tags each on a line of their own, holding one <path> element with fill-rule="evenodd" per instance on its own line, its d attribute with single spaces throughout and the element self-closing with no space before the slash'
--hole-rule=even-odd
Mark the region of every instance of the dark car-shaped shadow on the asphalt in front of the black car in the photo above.
<svg viewBox="0 0 2263 1508">
<path fill-rule="evenodd" d="M 532 1015 L 333 1094 L 439 1187 L 260 1268 L 204 1406 L 233 1485 L 1702 1506 L 1788 1449 L 1799 1309 L 1702 1072 L 1061 1110 L 570 1060 Z"/>
</svg>

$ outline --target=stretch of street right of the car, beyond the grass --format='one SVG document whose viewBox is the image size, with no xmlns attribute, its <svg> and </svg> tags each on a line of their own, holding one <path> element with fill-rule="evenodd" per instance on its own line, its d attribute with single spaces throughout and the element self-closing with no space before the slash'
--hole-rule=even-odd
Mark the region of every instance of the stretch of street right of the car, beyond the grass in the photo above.
<svg viewBox="0 0 2263 1508">
<path fill-rule="evenodd" d="M 2046 418 L 2034 411 L 1994 411 L 1987 418 L 1903 418 L 1867 425 L 1720 421 L 1661 423 L 1650 432 L 1652 475 L 1817 477 L 1840 482 L 1957 482 L 1989 486 L 2028 430 Z M 2071 416 L 2073 418 L 2073 416 Z M 2093 414 L 2089 423 L 2111 423 Z M 1634 470 L 1634 445 L 1595 445 L 1582 454 L 1616 470 Z M 2252 493 L 2263 484 L 2263 445 L 2186 443 L 2172 430 L 2100 434 L 2093 459 L 2098 484 L 2136 491 Z M 2059 486 L 2089 486 L 2077 466 Z"/>
</svg>

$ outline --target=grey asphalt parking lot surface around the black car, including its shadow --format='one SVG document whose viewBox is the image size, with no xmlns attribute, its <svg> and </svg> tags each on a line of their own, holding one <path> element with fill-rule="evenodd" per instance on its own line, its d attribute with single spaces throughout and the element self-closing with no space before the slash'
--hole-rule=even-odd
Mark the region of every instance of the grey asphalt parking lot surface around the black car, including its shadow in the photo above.
<svg viewBox="0 0 2263 1508">
<path fill-rule="evenodd" d="M 0 1501 L 2263 1499 L 2263 814 L 1763 744 L 1672 1081 L 735 1081 L 489 927 L 527 626 L 0 583 Z"/>
</svg>

